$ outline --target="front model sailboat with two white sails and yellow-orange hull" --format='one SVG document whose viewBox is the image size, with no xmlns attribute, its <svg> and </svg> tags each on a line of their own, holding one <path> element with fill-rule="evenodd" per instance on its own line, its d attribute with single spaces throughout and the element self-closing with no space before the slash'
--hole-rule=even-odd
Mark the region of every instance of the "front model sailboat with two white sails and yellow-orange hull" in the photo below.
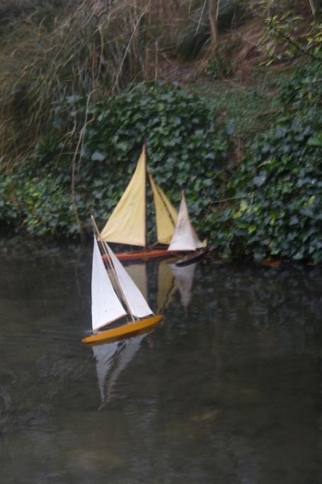
<svg viewBox="0 0 322 484">
<path fill-rule="evenodd" d="M 113 271 L 114 281 L 117 285 L 116 288 L 113 287 L 113 283 L 105 269 L 98 242 L 96 237 L 94 237 L 91 284 L 93 331 L 100 330 L 100 328 L 120 320 L 120 318 L 130 317 L 131 321 L 110 330 L 96 332 L 82 339 L 84 343 L 95 343 L 106 339 L 126 337 L 129 334 L 155 325 L 162 317 L 161 315 L 154 315 L 139 288 L 127 274 L 117 257 L 115 257 L 108 244 L 103 242 L 93 217 L 92 220 L 98 234 L 98 240 L 105 252 L 105 261 Z"/>
</svg>

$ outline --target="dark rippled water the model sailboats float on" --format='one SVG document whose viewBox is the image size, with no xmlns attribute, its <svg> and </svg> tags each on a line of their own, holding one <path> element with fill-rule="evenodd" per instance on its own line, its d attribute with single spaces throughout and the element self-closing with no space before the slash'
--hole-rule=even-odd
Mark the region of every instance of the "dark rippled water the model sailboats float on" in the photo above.
<svg viewBox="0 0 322 484">
<path fill-rule="evenodd" d="M 322 483 L 321 269 L 202 261 L 96 349 L 91 247 L 3 239 L 0 271 L 1 484 Z"/>
</svg>

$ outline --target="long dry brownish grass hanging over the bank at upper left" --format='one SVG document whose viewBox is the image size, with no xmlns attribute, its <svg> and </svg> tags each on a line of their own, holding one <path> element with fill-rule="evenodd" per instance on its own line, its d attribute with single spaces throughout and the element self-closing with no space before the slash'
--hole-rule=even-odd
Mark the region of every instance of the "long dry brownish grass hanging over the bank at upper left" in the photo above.
<svg viewBox="0 0 322 484">
<path fill-rule="evenodd" d="M 111 9 L 91 3 L 82 1 L 76 10 L 42 17 L 41 23 L 33 14 L 23 16 L 3 38 L 2 167 L 50 127 L 53 100 L 113 94 L 130 82 L 154 79 L 158 32 L 151 2 L 119 1 Z"/>
</svg>

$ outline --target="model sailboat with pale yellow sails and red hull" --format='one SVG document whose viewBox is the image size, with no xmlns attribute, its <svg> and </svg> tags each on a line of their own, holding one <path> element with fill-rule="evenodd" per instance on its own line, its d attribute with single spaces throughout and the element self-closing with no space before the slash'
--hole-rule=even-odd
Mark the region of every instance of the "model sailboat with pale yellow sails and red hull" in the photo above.
<svg viewBox="0 0 322 484">
<path fill-rule="evenodd" d="M 148 247 L 146 222 L 146 145 L 139 157 L 137 168 L 130 184 L 115 207 L 101 232 L 102 240 L 117 244 L 138 245 L 143 250 L 116 254 L 117 259 L 146 259 L 168 257 L 166 247 L 171 242 L 178 213 L 173 208 L 166 194 L 154 182 L 149 174 L 154 196 L 156 213 L 156 235 L 159 244 L 164 247 Z"/>
</svg>

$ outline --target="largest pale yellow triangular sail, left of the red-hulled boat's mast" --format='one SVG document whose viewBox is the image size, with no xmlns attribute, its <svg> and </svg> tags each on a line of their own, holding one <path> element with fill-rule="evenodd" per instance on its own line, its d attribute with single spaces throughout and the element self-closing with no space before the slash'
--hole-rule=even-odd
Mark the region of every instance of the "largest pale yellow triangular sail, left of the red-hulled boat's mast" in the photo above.
<svg viewBox="0 0 322 484">
<path fill-rule="evenodd" d="M 146 150 L 137 169 L 101 232 L 106 242 L 146 246 Z"/>
</svg>

